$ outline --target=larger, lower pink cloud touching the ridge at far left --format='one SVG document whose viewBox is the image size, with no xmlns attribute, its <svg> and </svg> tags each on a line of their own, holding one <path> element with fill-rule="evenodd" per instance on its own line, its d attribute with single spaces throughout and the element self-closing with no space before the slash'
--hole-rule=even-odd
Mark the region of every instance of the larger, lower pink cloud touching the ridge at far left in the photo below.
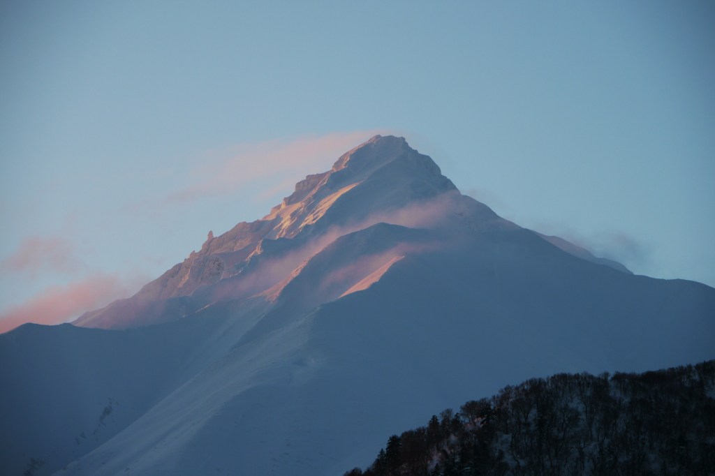
<svg viewBox="0 0 715 476">
<path fill-rule="evenodd" d="M 34 322 L 61 324 L 82 312 L 103 307 L 131 294 L 132 287 L 109 275 L 96 275 L 66 286 L 50 287 L 36 297 L 0 314 L 0 333 Z"/>
</svg>

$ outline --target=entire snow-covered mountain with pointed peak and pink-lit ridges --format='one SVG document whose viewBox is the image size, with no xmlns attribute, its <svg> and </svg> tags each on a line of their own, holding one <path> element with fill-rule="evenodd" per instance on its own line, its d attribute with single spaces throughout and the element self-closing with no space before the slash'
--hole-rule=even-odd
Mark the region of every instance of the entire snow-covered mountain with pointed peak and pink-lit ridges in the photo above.
<svg viewBox="0 0 715 476">
<path fill-rule="evenodd" d="M 4 474 L 340 475 L 509 383 L 711 359 L 715 289 L 518 227 L 378 136 L 74 324 L 0 335 Z"/>
</svg>

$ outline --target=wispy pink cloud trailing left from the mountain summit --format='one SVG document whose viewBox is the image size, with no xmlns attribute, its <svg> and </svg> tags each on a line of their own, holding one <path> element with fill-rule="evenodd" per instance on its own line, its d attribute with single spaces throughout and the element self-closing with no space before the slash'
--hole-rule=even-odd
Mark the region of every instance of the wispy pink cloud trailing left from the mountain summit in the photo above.
<svg viewBox="0 0 715 476">
<path fill-rule="evenodd" d="M 361 130 L 238 144 L 212 152 L 191 172 L 192 183 L 165 197 L 167 204 L 183 204 L 202 197 L 230 194 L 257 180 L 297 182 L 306 173 L 322 172 L 348 149 L 385 131 Z"/>
</svg>

